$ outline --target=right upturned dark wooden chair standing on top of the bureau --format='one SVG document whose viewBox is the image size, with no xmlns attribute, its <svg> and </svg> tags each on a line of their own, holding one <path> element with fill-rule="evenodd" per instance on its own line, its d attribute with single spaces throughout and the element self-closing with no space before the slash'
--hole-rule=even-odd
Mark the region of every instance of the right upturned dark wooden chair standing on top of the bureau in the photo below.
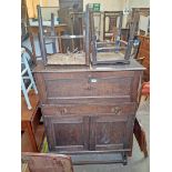
<svg viewBox="0 0 172 172">
<path fill-rule="evenodd" d="M 108 13 L 110 14 L 110 12 Z M 119 16 L 119 14 L 118 14 Z M 104 12 L 104 23 L 105 23 Z M 109 16 L 111 18 L 111 16 Z M 114 17 L 110 20 L 111 26 L 114 27 Z M 120 23 L 118 28 L 118 36 L 115 41 L 97 41 L 93 14 L 90 12 L 90 28 L 91 28 L 91 40 L 92 40 L 92 63 L 97 64 L 115 64 L 115 63 L 130 63 L 130 59 L 134 58 L 138 52 L 138 43 L 135 43 L 136 26 L 139 22 L 139 13 L 135 12 L 129 24 L 129 39 L 127 41 L 121 40 L 121 28 L 122 28 L 122 13 L 120 13 Z M 105 27 L 103 27 L 105 28 Z M 109 27 L 111 28 L 111 27 Z M 104 31 L 105 29 L 103 29 Z M 112 30 L 112 29 L 110 29 Z M 111 38 L 112 39 L 112 38 Z M 113 40 L 113 39 L 112 39 Z M 105 58 L 104 58 L 105 57 Z M 108 59 L 108 58 L 109 59 Z"/>
</svg>

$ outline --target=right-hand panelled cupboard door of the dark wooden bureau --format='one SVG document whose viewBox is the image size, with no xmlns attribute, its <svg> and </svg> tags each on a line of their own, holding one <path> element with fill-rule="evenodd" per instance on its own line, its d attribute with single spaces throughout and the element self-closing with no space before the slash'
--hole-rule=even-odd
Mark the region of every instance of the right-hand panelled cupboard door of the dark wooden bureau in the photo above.
<svg viewBox="0 0 172 172">
<path fill-rule="evenodd" d="M 133 117 L 91 117 L 90 150 L 130 149 Z"/>
</svg>

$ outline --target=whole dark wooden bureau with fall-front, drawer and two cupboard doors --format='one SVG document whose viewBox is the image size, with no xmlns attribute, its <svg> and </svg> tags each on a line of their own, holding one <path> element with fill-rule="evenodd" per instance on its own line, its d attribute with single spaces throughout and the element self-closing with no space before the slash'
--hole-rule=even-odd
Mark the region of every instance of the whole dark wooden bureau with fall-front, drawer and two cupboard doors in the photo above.
<svg viewBox="0 0 172 172">
<path fill-rule="evenodd" d="M 34 77 L 50 152 L 131 155 L 143 67 L 44 67 Z"/>
</svg>

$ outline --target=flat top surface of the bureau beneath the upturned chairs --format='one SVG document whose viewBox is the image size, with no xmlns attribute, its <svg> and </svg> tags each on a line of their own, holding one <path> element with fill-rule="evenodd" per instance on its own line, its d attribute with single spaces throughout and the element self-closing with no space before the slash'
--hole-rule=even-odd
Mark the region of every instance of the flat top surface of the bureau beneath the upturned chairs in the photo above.
<svg viewBox="0 0 172 172">
<path fill-rule="evenodd" d="M 143 71 L 145 68 L 134 59 L 130 60 L 129 64 L 103 64 L 90 67 L 68 67 L 68 65 L 47 65 L 42 61 L 38 62 L 33 72 L 81 72 L 81 71 Z"/>
</svg>

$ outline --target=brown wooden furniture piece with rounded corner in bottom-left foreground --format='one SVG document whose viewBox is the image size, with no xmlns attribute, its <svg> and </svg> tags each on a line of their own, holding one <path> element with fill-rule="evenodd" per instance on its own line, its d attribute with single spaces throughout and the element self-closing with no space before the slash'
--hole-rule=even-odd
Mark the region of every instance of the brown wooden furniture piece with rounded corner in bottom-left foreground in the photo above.
<svg viewBox="0 0 172 172">
<path fill-rule="evenodd" d="M 69 155 L 52 153 L 22 153 L 22 162 L 27 162 L 30 172 L 73 172 Z"/>
</svg>

